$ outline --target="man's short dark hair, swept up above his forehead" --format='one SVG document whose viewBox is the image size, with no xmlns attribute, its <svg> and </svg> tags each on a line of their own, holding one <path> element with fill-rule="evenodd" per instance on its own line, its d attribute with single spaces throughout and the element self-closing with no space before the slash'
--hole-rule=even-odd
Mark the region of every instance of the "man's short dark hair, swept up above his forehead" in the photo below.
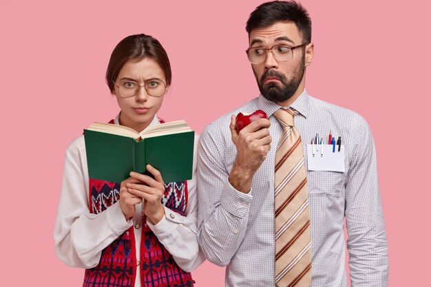
<svg viewBox="0 0 431 287">
<path fill-rule="evenodd" d="M 295 1 L 272 1 L 257 6 L 251 12 L 245 30 L 265 28 L 277 22 L 293 22 L 304 43 L 311 43 L 311 19 L 307 10 Z"/>
</svg>

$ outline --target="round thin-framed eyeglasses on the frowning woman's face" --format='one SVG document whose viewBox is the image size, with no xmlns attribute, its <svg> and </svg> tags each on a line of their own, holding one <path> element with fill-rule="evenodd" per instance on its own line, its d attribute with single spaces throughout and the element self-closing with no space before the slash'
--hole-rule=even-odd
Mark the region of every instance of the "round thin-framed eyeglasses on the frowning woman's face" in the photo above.
<svg viewBox="0 0 431 287">
<path fill-rule="evenodd" d="M 149 96 L 163 96 L 166 94 L 166 84 L 160 78 L 151 78 L 148 81 L 145 81 L 144 85 L 138 85 L 138 83 L 132 81 L 122 81 L 120 85 L 114 85 L 118 87 L 118 94 L 120 94 L 123 98 L 132 98 L 132 96 L 136 96 L 139 93 L 140 87 L 144 87 L 145 92 Z"/>
</svg>

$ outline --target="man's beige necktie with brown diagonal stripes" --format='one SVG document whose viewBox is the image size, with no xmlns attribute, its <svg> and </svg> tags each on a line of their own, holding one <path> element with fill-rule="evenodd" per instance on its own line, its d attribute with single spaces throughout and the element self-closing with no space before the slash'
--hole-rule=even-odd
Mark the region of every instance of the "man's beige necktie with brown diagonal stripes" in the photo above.
<svg viewBox="0 0 431 287">
<path fill-rule="evenodd" d="M 274 116 L 283 126 L 275 153 L 275 284 L 310 286 L 310 215 L 301 136 L 294 111 L 278 109 Z"/>
</svg>

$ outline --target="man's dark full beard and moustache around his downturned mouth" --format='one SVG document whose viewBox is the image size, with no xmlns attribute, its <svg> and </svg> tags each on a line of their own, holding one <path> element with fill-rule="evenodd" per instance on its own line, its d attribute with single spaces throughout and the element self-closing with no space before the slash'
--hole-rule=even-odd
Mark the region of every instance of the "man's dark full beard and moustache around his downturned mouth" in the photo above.
<svg viewBox="0 0 431 287">
<path fill-rule="evenodd" d="M 304 72 L 304 56 L 302 56 L 302 61 L 300 62 L 297 69 L 293 71 L 290 80 L 288 80 L 282 72 L 278 72 L 277 70 L 268 70 L 264 72 L 264 74 L 262 74 L 262 76 L 260 77 L 260 80 L 258 80 L 257 75 L 253 70 L 253 73 L 256 77 L 257 86 L 260 90 L 260 94 L 262 94 L 262 96 L 264 96 L 266 100 L 271 100 L 274 103 L 282 103 L 285 100 L 291 98 L 293 94 L 295 94 L 299 87 L 299 84 L 302 81 L 302 78 L 304 77 Z M 280 87 L 279 83 L 275 82 L 264 84 L 265 78 L 269 76 L 275 76 L 279 78 L 282 82 L 282 87 Z"/>
</svg>

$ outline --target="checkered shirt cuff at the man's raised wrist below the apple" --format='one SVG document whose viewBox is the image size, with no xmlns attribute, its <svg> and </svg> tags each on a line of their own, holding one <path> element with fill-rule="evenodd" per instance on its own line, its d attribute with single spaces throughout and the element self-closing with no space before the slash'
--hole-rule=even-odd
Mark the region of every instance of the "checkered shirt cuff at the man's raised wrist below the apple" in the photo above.
<svg viewBox="0 0 431 287">
<path fill-rule="evenodd" d="M 253 195 L 249 193 L 242 193 L 232 187 L 229 180 L 224 185 L 222 196 L 220 197 L 220 205 L 229 213 L 244 218 L 249 211 L 250 202 Z"/>
</svg>

